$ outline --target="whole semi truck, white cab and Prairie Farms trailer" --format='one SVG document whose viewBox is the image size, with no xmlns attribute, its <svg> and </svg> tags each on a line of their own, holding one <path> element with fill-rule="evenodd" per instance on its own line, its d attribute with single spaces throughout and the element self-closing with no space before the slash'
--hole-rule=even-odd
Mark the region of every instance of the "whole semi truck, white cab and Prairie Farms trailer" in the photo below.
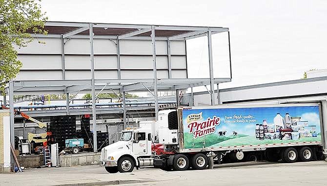
<svg viewBox="0 0 327 186">
<path fill-rule="evenodd" d="M 201 170 L 214 158 L 242 159 L 246 151 L 264 151 L 268 161 L 311 161 L 327 154 L 325 111 L 320 103 L 163 110 L 157 137 L 167 153 L 151 152 L 151 129 L 128 128 L 120 141 L 102 149 L 100 166 L 109 173 L 134 167 Z"/>
</svg>

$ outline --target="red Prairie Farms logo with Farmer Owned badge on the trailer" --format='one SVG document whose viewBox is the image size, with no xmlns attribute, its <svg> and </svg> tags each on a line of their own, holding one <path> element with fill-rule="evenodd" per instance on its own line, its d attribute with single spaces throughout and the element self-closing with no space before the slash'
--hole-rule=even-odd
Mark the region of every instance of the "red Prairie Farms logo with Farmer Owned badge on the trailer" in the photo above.
<svg viewBox="0 0 327 186">
<path fill-rule="evenodd" d="M 214 133 L 216 131 L 216 126 L 220 124 L 220 117 L 217 116 L 213 116 L 212 118 L 208 117 L 206 121 L 199 120 L 203 120 L 202 112 L 198 114 L 189 114 L 187 116 L 188 133 L 193 134 L 194 139 Z"/>
</svg>

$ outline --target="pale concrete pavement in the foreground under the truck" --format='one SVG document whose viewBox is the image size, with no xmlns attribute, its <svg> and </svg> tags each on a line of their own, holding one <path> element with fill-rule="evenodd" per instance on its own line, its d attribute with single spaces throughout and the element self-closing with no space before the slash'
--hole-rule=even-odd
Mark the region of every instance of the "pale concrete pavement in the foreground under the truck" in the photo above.
<svg viewBox="0 0 327 186">
<path fill-rule="evenodd" d="M 0 174 L 0 186 L 104 186 L 127 185 L 223 185 L 223 186 L 322 186 L 326 185 L 327 162 L 248 162 L 215 165 L 214 169 L 163 171 L 144 168 L 131 173 L 108 174 L 103 167 L 79 166 L 26 169 Z"/>
</svg>

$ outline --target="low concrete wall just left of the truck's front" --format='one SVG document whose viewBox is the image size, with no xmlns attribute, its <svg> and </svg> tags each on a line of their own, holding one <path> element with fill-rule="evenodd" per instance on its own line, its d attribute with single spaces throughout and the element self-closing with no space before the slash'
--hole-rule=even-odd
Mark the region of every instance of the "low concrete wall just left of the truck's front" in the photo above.
<svg viewBox="0 0 327 186">
<path fill-rule="evenodd" d="M 60 167 L 89 166 L 99 164 L 100 152 L 86 152 L 59 156 Z"/>
</svg>

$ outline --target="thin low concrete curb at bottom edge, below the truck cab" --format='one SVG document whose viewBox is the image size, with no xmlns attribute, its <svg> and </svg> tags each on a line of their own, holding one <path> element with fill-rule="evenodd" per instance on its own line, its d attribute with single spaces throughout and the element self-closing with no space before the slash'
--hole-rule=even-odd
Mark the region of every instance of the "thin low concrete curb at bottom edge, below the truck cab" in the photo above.
<svg viewBox="0 0 327 186">
<path fill-rule="evenodd" d="M 108 186 L 108 185 L 120 185 L 120 184 L 137 184 L 145 182 L 154 182 L 151 180 L 114 180 L 103 182 L 89 182 L 89 183 L 75 183 L 75 184 L 59 184 L 51 186 Z"/>
</svg>

